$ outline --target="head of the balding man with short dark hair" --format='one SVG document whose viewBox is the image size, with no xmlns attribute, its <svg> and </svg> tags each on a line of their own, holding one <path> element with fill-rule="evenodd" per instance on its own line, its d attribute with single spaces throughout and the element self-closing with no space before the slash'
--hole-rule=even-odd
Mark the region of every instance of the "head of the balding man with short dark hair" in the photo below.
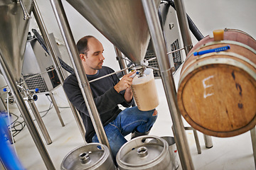
<svg viewBox="0 0 256 170">
<path fill-rule="evenodd" d="M 104 48 L 102 43 L 91 35 L 81 38 L 78 43 L 78 52 L 86 74 L 96 74 L 102 68 Z"/>
</svg>

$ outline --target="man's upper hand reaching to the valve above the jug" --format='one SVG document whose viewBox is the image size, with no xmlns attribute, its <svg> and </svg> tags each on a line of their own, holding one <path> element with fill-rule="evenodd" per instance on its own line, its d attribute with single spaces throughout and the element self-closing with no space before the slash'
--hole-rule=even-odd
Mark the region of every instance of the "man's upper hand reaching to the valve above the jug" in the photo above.
<svg viewBox="0 0 256 170">
<path fill-rule="evenodd" d="M 131 77 L 134 72 L 130 72 L 129 74 L 126 74 L 122 77 L 122 79 L 114 86 L 114 89 L 119 93 L 120 91 L 126 90 L 127 88 L 131 88 L 132 86 L 132 80 L 133 78 Z"/>
</svg>

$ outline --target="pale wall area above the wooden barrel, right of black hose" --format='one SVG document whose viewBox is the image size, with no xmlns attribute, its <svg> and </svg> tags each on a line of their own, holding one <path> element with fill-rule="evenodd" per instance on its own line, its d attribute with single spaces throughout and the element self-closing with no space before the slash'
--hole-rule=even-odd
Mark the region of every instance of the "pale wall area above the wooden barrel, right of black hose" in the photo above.
<svg viewBox="0 0 256 170">
<path fill-rule="evenodd" d="M 255 0 L 183 0 L 186 13 L 203 35 L 215 29 L 235 28 L 256 39 Z M 193 38 L 193 44 L 197 41 Z"/>
</svg>

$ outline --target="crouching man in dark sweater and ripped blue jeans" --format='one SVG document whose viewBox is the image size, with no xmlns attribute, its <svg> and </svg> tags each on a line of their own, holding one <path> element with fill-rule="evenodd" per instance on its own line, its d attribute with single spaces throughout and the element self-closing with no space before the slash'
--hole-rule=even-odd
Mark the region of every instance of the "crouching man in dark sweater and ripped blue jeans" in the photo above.
<svg viewBox="0 0 256 170">
<path fill-rule="evenodd" d="M 105 60 L 103 57 L 104 48 L 99 40 L 88 35 L 78 41 L 77 47 L 88 81 L 114 72 L 110 67 L 102 66 Z M 133 73 L 124 75 L 121 80 L 116 74 L 113 74 L 90 83 L 92 96 L 114 157 L 119 148 L 127 142 L 124 138 L 126 135 L 131 132 L 135 134 L 134 136 L 146 135 L 157 117 L 155 109 L 139 111 L 137 107 L 129 108 L 133 103 L 131 90 L 131 75 Z M 70 74 L 65 79 L 63 87 L 68 99 L 81 115 L 86 130 L 85 140 L 87 142 L 99 142 L 75 74 Z M 122 111 L 118 104 L 126 107 L 126 109 Z"/>
</svg>

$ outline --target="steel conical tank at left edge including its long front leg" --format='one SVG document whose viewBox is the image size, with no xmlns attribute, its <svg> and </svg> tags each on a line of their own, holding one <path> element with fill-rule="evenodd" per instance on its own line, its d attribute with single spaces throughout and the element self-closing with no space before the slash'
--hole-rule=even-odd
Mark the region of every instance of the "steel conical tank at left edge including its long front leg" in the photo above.
<svg viewBox="0 0 256 170">
<path fill-rule="evenodd" d="M 40 152 L 48 169 L 55 169 L 51 162 L 46 147 L 43 145 L 36 126 L 33 124 L 31 115 L 23 101 L 23 95 L 18 89 L 21 81 L 21 69 L 23 54 L 28 35 L 28 18 L 32 11 L 31 0 L 1 1 L 0 3 L 0 69 L 9 89 L 14 95 L 23 119 L 33 137 L 33 141 Z"/>
</svg>

